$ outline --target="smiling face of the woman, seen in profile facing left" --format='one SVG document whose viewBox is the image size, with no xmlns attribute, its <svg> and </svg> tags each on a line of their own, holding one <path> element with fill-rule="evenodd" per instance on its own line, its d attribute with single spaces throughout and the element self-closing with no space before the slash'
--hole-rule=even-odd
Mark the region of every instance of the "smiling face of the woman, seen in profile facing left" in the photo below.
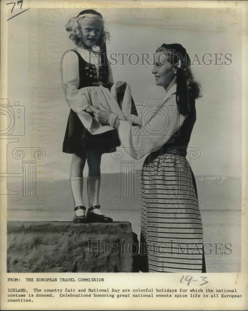
<svg viewBox="0 0 248 311">
<path fill-rule="evenodd" d="M 163 86 L 165 89 L 175 78 L 175 66 L 169 64 L 166 52 L 158 52 L 155 55 L 152 73 L 155 75 L 156 85 Z"/>
</svg>

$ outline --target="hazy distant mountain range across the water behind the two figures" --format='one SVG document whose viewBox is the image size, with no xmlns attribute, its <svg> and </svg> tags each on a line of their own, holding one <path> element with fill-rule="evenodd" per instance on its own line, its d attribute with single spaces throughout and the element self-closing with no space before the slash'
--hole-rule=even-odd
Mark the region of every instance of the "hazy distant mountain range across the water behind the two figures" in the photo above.
<svg viewBox="0 0 248 311">
<path fill-rule="evenodd" d="M 133 173 L 132 173 L 133 174 Z M 132 174 L 102 174 L 100 204 L 105 208 L 140 209 L 141 191 L 140 172 Z M 134 177 L 134 183 L 132 183 Z M 198 199 L 203 210 L 241 210 L 241 178 L 228 176 L 196 176 Z M 19 195 L 8 195 L 9 209 L 61 209 L 73 207 L 73 197 L 70 180 L 37 181 L 37 198 L 46 200 L 46 204 L 29 205 L 13 204 L 13 200 L 20 200 L 22 193 L 21 179 L 8 178 L 7 188 L 19 191 Z M 122 180 L 122 181 L 121 181 Z M 84 179 L 84 198 L 87 204 L 86 181 Z M 32 197 L 32 193 L 30 193 Z M 111 204 L 110 204 L 110 201 Z M 115 201 L 115 202 L 114 202 Z M 18 203 L 18 202 L 16 202 Z"/>
</svg>

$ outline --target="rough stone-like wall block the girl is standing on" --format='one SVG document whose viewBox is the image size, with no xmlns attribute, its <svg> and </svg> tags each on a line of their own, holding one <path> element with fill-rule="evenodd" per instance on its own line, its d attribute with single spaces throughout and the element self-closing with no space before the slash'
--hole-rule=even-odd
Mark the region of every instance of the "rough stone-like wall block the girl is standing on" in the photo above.
<svg viewBox="0 0 248 311">
<path fill-rule="evenodd" d="M 8 221 L 7 272 L 138 272 L 137 245 L 129 222 Z"/>
</svg>

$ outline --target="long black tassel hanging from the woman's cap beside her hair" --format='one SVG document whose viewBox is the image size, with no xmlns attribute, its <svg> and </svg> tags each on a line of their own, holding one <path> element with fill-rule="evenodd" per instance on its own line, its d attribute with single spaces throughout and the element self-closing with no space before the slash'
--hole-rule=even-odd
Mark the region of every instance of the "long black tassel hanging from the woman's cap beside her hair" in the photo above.
<svg viewBox="0 0 248 311">
<path fill-rule="evenodd" d="M 177 68 L 176 75 L 176 104 L 179 108 L 180 114 L 186 116 L 190 112 L 190 98 L 188 85 L 182 67 Z"/>
</svg>

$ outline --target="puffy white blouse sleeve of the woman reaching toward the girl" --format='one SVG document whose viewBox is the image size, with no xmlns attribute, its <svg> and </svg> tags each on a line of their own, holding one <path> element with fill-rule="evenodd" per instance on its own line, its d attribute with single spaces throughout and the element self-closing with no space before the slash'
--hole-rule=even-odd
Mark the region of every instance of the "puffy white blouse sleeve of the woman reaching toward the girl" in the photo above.
<svg viewBox="0 0 248 311">
<path fill-rule="evenodd" d="M 133 158 L 140 159 L 152 151 L 157 151 L 181 127 L 187 117 L 179 114 L 175 95 L 171 95 L 162 103 L 148 120 L 143 120 L 146 115 L 141 115 L 141 126 L 133 126 L 125 120 L 120 120 L 119 123 L 121 145 Z"/>
</svg>

